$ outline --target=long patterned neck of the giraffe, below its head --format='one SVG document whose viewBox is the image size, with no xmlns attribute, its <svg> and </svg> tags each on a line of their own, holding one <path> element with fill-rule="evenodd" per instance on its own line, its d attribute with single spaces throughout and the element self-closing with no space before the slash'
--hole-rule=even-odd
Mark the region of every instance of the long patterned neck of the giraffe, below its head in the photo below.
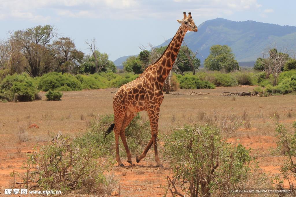
<svg viewBox="0 0 296 197">
<path fill-rule="evenodd" d="M 159 77 L 157 77 L 157 79 L 161 84 L 163 84 L 164 80 L 170 73 L 186 34 L 186 30 L 184 30 L 182 26 L 183 25 L 179 27 L 177 33 L 173 37 L 168 47 L 165 49 L 163 55 L 158 59 L 158 61 L 155 62 L 155 64 L 158 66 L 157 75 Z"/>
</svg>

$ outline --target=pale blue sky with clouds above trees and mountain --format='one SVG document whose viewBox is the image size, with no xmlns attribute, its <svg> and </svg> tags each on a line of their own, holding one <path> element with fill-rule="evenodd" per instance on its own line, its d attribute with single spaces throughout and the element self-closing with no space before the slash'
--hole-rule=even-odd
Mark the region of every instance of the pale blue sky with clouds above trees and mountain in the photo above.
<svg viewBox="0 0 296 197">
<path fill-rule="evenodd" d="M 0 39 L 8 31 L 50 24 L 84 53 L 85 40 L 95 38 L 114 61 L 173 37 L 184 11 L 192 12 L 196 25 L 222 17 L 295 26 L 295 7 L 295 0 L 0 0 Z"/>
</svg>

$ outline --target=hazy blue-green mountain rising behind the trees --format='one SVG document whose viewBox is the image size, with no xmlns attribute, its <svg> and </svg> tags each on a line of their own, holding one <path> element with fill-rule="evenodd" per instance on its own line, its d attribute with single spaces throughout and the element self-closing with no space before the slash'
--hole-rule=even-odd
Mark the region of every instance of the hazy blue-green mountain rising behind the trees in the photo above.
<svg viewBox="0 0 296 197">
<path fill-rule="evenodd" d="M 172 38 L 156 46 L 167 45 Z M 198 26 L 198 32 L 188 32 L 184 41 L 192 51 L 198 51 L 201 62 L 207 58 L 212 45 L 228 45 L 239 62 L 255 61 L 262 52 L 276 43 L 277 48 L 296 48 L 296 27 L 256 21 L 231 21 L 223 18 L 207 20 Z M 126 58 L 116 61 L 121 65 Z M 114 62 L 115 62 L 114 61 Z"/>
</svg>

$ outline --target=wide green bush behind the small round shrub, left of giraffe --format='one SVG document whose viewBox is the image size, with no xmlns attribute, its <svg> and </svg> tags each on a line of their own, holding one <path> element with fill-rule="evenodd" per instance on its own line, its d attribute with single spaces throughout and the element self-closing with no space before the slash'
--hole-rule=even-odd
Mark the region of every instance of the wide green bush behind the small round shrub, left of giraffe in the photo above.
<svg viewBox="0 0 296 197">
<path fill-rule="evenodd" d="M 40 77 L 38 89 L 42 91 L 75 91 L 81 90 L 81 83 L 71 74 L 51 72 Z"/>
</svg>

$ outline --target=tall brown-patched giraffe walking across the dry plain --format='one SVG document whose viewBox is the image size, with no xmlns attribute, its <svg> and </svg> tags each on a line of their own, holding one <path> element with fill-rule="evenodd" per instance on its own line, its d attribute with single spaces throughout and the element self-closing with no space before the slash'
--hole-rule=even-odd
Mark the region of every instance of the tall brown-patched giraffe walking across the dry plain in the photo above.
<svg viewBox="0 0 296 197">
<path fill-rule="evenodd" d="M 108 128 L 105 137 L 112 130 L 115 133 L 116 161 L 119 166 L 124 166 L 119 156 L 119 136 L 126 150 L 127 162 L 132 164 L 131 152 L 125 137 L 125 129 L 137 112 L 147 111 L 151 127 L 151 139 L 140 156 L 136 157 L 139 163 L 143 159 L 152 144 L 154 144 L 155 161 L 157 166 L 162 166 L 157 152 L 157 133 L 160 105 L 163 101 L 163 83 L 176 61 L 177 54 L 187 31 L 197 32 L 197 27 L 192 19 L 191 12 L 177 21 L 181 24 L 176 35 L 164 51 L 163 55 L 148 66 L 135 80 L 122 85 L 113 98 L 114 123 Z"/>
</svg>

